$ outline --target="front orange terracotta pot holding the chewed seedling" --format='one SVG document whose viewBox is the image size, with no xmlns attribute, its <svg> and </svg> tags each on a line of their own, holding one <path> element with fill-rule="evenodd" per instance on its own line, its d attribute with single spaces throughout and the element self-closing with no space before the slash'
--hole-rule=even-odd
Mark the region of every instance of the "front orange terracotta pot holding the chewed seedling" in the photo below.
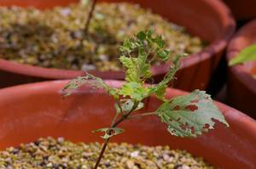
<svg viewBox="0 0 256 169">
<path fill-rule="evenodd" d="M 103 91 L 84 87 L 63 99 L 61 88 L 67 81 L 40 82 L 0 90 L 0 149 L 29 143 L 40 137 L 65 137 L 74 142 L 102 139 L 90 131 L 108 127 L 113 118 L 113 99 Z M 108 81 L 112 87 L 120 82 Z M 167 97 L 186 94 L 168 89 Z M 199 155 L 222 168 L 256 167 L 256 122 L 224 104 L 216 103 L 230 127 L 216 123 L 215 129 L 200 138 L 177 138 L 155 116 L 126 121 L 125 133 L 113 142 L 170 145 Z M 144 111 L 155 110 L 160 101 L 152 97 Z"/>
</svg>

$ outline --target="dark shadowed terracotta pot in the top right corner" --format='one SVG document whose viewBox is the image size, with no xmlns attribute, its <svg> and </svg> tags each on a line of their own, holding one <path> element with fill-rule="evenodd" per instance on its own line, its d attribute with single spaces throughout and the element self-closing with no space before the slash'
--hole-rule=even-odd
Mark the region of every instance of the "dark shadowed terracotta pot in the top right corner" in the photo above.
<svg viewBox="0 0 256 169">
<path fill-rule="evenodd" d="M 256 17 L 256 1 L 255 0 L 224 0 L 236 20 L 250 20 Z"/>
</svg>

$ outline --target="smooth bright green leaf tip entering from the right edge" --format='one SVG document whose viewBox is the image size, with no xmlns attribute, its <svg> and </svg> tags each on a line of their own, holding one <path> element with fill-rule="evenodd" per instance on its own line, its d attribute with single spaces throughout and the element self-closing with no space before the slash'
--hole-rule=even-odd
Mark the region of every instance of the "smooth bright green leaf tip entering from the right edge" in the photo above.
<svg viewBox="0 0 256 169">
<path fill-rule="evenodd" d="M 230 60 L 229 65 L 238 65 L 253 60 L 256 60 L 256 44 L 241 50 L 240 54 L 238 54 L 234 59 Z"/>
</svg>

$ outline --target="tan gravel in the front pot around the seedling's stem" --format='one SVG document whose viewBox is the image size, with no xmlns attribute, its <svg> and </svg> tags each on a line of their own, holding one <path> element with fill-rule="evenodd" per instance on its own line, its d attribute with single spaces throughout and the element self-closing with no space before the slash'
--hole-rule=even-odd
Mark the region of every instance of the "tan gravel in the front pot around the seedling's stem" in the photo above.
<svg viewBox="0 0 256 169">
<path fill-rule="evenodd" d="M 64 138 L 39 138 L 0 151 L 0 168 L 5 169 L 90 169 L 102 144 L 73 144 Z M 99 169 L 213 169 L 202 158 L 168 146 L 149 147 L 132 144 L 108 144 Z"/>
</svg>

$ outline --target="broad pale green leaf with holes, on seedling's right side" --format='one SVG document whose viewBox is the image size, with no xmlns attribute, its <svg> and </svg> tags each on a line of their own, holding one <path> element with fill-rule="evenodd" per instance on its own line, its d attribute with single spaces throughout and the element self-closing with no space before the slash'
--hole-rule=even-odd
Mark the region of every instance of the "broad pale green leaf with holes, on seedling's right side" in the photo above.
<svg viewBox="0 0 256 169">
<path fill-rule="evenodd" d="M 199 90 L 162 104 L 156 113 L 167 124 L 168 131 L 179 137 L 196 137 L 208 132 L 215 124 L 213 119 L 229 127 L 210 96 Z"/>
</svg>

